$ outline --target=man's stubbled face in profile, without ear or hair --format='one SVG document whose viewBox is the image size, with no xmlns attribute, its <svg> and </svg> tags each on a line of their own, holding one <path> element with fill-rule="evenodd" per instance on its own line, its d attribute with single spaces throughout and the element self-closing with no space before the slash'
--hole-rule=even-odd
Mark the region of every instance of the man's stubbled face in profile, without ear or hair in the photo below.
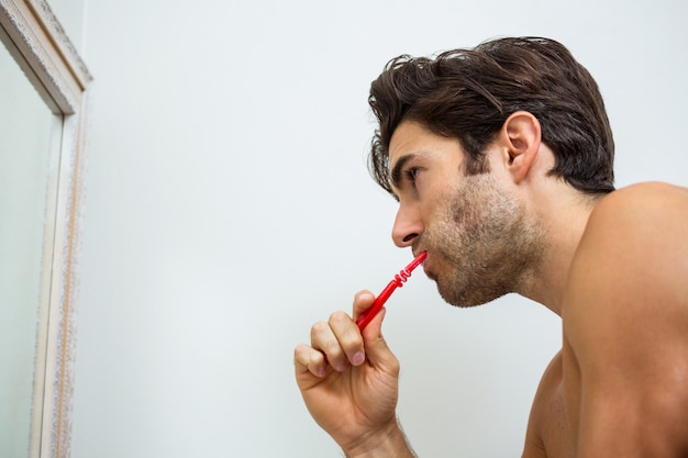
<svg viewBox="0 0 688 458">
<path fill-rule="evenodd" d="M 491 171 L 467 176 L 456 138 L 414 122 L 401 123 L 389 145 L 399 211 L 397 246 L 428 250 L 425 273 L 454 305 L 478 305 L 517 291 L 536 268 L 543 231 L 529 219 L 498 148 L 488 148 Z"/>
</svg>

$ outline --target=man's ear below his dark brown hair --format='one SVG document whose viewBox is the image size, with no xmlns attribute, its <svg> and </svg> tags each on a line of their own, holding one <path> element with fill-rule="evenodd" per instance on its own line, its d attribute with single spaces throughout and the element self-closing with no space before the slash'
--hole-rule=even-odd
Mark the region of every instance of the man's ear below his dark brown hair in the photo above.
<svg viewBox="0 0 688 458">
<path fill-rule="evenodd" d="M 515 183 L 521 182 L 530 171 L 542 139 L 540 121 L 528 111 L 512 113 L 500 133 L 504 149 L 504 165 Z"/>
</svg>

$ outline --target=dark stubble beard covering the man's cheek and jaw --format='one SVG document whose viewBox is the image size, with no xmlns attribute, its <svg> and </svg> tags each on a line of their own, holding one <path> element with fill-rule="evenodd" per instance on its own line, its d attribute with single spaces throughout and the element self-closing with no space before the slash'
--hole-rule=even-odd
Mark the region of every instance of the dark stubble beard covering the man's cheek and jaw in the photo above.
<svg viewBox="0 0 688 458">
<path fill-rule="evenodd" d="M 490 174 L 465 176 L 437 213 L 422 243 L 447 303 L 485 304 L 522 292 L 537 275 L 545 231 Z"/>
</svg>

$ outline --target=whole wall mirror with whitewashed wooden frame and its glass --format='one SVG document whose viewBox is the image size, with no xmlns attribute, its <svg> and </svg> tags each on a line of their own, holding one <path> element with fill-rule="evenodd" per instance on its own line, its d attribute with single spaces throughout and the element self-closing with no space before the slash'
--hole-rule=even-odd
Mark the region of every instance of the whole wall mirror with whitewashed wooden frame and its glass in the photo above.
<svg viewBox="0 0 688 458">
<path fill-rule="evenodd" d="M 0 456 L 68 457 L 91 76 L 41 0 L 0 0 Z"/>
</svg>

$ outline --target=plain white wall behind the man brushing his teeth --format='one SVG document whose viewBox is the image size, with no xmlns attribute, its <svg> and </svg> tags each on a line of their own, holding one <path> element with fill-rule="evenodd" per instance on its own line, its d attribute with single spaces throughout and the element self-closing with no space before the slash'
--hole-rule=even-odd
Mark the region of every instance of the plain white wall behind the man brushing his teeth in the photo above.
<svg viewBox="0 0 688 458">
<path fill-rule="evenodd" d="M 73 457 L 336 457 L 292 348 L 409 260 L 368 177 L 391 57 L 561 40 L 598 78 L 618 183 L 688 185 L 688 3 L 89 0 L 95 75 Z M 418 277 L 418 278 L 415 278 Z M 424 457 L 517 456 L 558 319 L 506 298 L 389 304 L 400 415 Z"/>
</svg>

